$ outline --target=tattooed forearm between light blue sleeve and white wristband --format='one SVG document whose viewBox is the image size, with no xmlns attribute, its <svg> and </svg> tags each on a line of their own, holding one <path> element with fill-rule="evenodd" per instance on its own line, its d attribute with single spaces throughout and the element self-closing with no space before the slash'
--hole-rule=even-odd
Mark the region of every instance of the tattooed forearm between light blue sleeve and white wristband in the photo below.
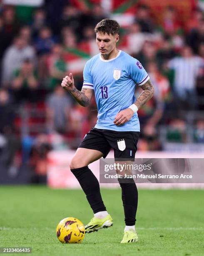
<svg viewBox="0 0 204 256">
<path fill-rule="evenodd" d="M 139 95 L 136 102 L 134 104 L 139 109 L 142 105 L 144 105 L 148 100 L 150 100 L 154 94 L 154 87 L 150 80 L 148 80 L 145 84 L 140 86 L 143 92 Z"/>
</svg>

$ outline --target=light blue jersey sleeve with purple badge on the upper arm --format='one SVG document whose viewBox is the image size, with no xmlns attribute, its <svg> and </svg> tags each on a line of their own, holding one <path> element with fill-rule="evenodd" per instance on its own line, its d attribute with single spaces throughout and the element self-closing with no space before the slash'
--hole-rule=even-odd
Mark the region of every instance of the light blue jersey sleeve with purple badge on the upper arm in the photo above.
<svg viewBox="0 0 204 256">
<path fill-rule="evenodd" d="M 131 61 L 129 75 L 137 85 L 145 84 L 149 80 L 149 75 L 137 59 Z"/>
</svg>

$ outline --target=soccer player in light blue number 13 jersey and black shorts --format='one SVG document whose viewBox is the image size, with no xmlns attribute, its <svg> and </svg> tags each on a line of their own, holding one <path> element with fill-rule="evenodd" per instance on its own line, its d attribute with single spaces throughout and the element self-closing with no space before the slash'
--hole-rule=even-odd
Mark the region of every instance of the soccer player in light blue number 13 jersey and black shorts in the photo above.
<svg viewBox="0 0 204 256">
<path fill-rule="evenodd" d="M 64 77 L 61 84 L 80 105 L 89 105 L 93 94 L 97 103 L 97 123 L 80 143 L 70 163 L 71 172 L 79 181 L 94 212 L 94 217 L 85 226 L 86 233 L 108 228 L 113 224 L 102 201 L 99 182 L 88 165 L 101 157 L 105 158 L 111 148 L 114 149 L 117 161 L 134 161 L 140 131 L 137 110 L 154 93 L 142 64 L 116 48 L 119 41 L 117 21 L 101 20 L 95 27 L 95 33 L 100 54 L 87 61 L 82 90 L 75 87 L 72 73 Z M 143 90 L 137 100 L 134 97 L 135 84 Z M 137 187 L 133 180 L 118 180 L 122 189 L 126 225 L 121 243 L 137 242 Z"/>
</svg>

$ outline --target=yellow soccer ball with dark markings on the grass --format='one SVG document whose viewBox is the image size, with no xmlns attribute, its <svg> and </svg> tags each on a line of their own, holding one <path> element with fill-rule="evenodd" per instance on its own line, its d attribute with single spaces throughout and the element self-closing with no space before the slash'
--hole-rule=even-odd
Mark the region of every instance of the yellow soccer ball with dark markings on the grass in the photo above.
<svg viewBox="0 0 204 256">
<path fill-rule="evenodd" d="M 61 243 L 81 243 L 85 236 L 85 227 L 80 220 L 69 217 L 60 221 L 56 234 Z"/>
</svg>

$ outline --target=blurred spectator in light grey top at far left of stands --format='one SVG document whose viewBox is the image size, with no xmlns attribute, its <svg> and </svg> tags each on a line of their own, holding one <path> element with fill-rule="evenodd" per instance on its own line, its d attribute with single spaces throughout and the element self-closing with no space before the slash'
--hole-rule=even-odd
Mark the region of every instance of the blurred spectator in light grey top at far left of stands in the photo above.
<svg viewBox="0 0 204 256">
<path fill-rule="evenodd" d="M 4 85 L 10 83 L 13 72 L 21 67 L 25 59 L 30 59 L 35 63 L 35 50 L 27 44 L 25 38 L 18 36 L 14 39 L 14 43 L 5 51 L 2 60 L 2 82 Z"/>
</svg>

